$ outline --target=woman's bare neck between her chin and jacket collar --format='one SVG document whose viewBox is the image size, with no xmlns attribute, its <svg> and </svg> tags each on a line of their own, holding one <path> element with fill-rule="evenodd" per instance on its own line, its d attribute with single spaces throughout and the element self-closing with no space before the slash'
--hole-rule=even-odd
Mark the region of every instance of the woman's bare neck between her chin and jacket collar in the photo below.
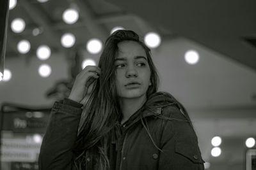
<svg viewBox="0 0 256 170">
<path fill-rule="evenodd" d="M 137 110 L 143 106 L 143 104 L 146 102 L 147 98 L 146 96 L 138 97 L 138 98 L 122 98 L 120 99 L 120 106 L 122 110 L 122 120 L 121 124 L 124 124 L 131 115 L 133 115 Z"/>
</svg>

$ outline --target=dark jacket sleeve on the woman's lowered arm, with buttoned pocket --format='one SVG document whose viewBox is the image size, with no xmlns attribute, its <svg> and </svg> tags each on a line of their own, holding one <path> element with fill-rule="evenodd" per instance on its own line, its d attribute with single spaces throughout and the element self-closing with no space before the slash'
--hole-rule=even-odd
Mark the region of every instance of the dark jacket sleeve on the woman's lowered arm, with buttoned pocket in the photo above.
<svg viewBox="0 0 256 170">
<path fill-rule="evenodd" d="M 172 120 L 163 120 L 159 170 L 203 170 L 204 160 L 192 125 L 175 106 L 169 106 L 163 112 Z"/>
</svg>

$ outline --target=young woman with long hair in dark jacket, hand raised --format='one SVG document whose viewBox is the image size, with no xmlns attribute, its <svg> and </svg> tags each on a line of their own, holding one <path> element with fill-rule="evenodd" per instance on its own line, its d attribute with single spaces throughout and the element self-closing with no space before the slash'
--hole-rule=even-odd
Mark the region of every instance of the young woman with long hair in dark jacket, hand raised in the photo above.
<svg viewBox="0 0 256 170">
<path fill-rule="evenodd" d="M 204 169 L 188 113 L 158 83 L 139 36 L 111 34 L 99 66 L 85 67 L 54 103 L 39 169 Z"/>
</svg>

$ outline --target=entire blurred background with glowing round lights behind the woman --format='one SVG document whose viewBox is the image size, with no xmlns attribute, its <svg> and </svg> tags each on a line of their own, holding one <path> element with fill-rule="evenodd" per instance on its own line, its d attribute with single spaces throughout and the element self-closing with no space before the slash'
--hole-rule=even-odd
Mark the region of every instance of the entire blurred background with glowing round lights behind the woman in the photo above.
<svg viewBox="0 0 256 170">
<path fill-rule="evenodd" d="M 38 169 L 49 111 L 116 29 L 140 34 L 184 104 L 205 169 L 256 169 L 256 1 L 10 0 L 1 169 Z"/>
</svg>

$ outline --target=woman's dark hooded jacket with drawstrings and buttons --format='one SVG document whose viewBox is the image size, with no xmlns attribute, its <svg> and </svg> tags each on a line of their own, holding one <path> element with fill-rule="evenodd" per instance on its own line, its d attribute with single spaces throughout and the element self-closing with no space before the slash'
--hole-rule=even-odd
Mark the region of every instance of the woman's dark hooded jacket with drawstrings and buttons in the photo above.
<svg viewBox="0 0 256 170">
<path fill-rule="evenodd" d="M 39 169 L 76 169 L 73 147 L 81 104 L 54 103 L 39 155 Z M 202 170 L 195 131 L 172 96 L 150 96 L 123 125 L 109 132 L 108 158 L 114 170 Z M 97 169 L 95 148 L 86 151 L 86 169 Z"/>
</svg>

